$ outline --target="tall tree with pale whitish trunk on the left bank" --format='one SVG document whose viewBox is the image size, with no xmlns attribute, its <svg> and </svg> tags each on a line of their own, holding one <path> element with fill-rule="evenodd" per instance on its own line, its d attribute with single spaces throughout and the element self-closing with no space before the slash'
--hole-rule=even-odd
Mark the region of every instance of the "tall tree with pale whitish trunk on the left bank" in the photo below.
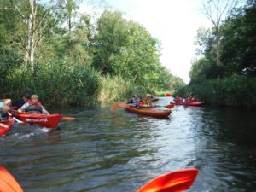
<svg viewBox="0 0 256 192">
<path fill-rule="evenodd" d="M 5 1 L 2 5 L 0 9 L 13 15 L 11 20 L 17 32 L 12 41 L 15 46 L 23 50 L 24 61 L 29 61 L 33 69 L 36 50 L 42 43 L 45 33 L 49 30 L 47 26 L 53 19 L 51 17 L 53 6 L 50 3 L 43 6 L 38 3 L 38 0 Z"/>
</svg>

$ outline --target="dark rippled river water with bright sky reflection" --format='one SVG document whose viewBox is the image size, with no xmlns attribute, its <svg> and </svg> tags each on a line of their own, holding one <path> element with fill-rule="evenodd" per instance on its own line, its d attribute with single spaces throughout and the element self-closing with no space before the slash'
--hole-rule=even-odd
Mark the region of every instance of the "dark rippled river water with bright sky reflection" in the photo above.
<svg viewBox="0 0 256 192">
<path fill-rule="evenodd" d="M 0 137 L 0 163 L 27 192 L 136 191 L 193 167 L 189 192 L 256 191 L 255 110 L 177 106 L 169 119 L 109 106 L 57 111 L 77 119 L 51 131 L 14 125 Z"/>
</svg>

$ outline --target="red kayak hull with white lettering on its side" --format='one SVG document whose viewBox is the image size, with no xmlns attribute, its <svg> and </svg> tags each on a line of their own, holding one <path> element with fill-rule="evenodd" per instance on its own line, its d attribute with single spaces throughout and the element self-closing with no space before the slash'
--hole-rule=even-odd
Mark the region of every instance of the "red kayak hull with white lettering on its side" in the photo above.
<svg viewBox="0 0 256 192">
<path fill-rule="evenodd" d="M 17 113 L 12 111 L 17 119 L 24 121 L 30 125 L 41 125 L 47 128 L 55 128 L 62 119 L 62 114 L 29 114 L 29 113 Z"/>
</svg>

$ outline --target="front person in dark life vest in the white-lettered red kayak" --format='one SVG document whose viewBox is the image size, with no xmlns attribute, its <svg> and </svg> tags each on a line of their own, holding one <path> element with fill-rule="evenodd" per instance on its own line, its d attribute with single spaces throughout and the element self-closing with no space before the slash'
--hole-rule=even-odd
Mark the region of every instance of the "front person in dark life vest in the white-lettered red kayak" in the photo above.
<svg viewBox="0 0 256 192">
<path fill-rule="evenodd" d="M 21 108 L 18 109 L 19 113 L 44 113 L 49 114 L 49 112 L 44 108 L 44 106 L 39 102 L 39 97 L 37 95 L 32 95 L 31 100 L 26 102 Z"/>
</svg>

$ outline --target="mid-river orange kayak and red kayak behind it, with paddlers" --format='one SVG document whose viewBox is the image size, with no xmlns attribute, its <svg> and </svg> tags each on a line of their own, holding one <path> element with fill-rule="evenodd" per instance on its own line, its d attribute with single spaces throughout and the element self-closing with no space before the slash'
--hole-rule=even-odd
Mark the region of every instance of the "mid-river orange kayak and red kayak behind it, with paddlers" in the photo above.
<svg viewBox="0 0 256 192">
<path fill-rule="evenodd" d="M 158 99 L 156 101 L 158 101 Z M 186 97 L 185 99 L 182 99 L 181 97 L 177 96 L 175 97 L 173 102 L 170 102 L 169 105 L 157 106 L 149 102 L 147 96 L 143 96 L 143 99 L 139 99 L 137 94 L 135 94 L 132 96 L 131 100 L 126 104 L 114 105 L 111 107 L 111 109 L 125 108 L 126 111 L 129 111 L 131 113 L 137 113 L 137 114 L 142 114 L 145 116 L 151 116 L 156 118 L 167 118 L 172 113 L 170 109 L 173 108 L 174 105 L 199 107 L 203 104 L 204 102 L 197 102 L 195 97 Z M 157 107 L 165 107 L 168 109 L 161 110 L 161 109 L 158 109 Z"/>
</svg>

